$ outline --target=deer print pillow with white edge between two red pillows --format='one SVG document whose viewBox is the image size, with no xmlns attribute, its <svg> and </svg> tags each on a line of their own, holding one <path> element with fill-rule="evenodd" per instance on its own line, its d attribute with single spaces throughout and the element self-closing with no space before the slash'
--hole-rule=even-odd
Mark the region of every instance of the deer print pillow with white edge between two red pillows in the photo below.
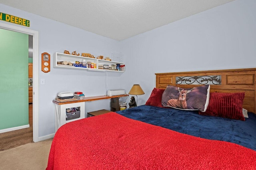
<svg viewBox="0 0 256 170">
<path fill-rule="evenodd" d="M 206 111 L 210 98 L 210 85 L 180 88 L 168 85 L 162 95 L 162 106 L 183 110 Z"/>
</svg>

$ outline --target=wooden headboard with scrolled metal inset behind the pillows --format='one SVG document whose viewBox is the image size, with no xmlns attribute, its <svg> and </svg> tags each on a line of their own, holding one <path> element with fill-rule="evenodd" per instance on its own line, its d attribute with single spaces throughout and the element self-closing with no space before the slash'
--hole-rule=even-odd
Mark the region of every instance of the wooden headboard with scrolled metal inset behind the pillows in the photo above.
<svg viewBox="0 0 256 170">
<path fill-rule="evenodd" d="M 255 75 L 256 68 L 156 73 L 156 88 L 191 88 L 210 82 L 210 92 L 245 92 L 243 108 L 256 113 Z"/>
</svg>

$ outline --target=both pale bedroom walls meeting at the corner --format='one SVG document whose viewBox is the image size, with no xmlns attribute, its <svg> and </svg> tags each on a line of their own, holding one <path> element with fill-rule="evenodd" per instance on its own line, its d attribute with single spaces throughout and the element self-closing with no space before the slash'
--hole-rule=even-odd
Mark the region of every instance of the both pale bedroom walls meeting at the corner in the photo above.
<svg viewBox="0 0 256 170">
<path fill-rule="evenodd" d="M 43 73 L 38 68 L 39 80 L 46 83 L 39 86 L 39 137 L 54 133 L 52 100 L 60 91 L 95 96 L 116 88 L 129 92 L 133 84 L 140 84 L 146 93 L 138 96 L 142 105 L 155 87 L 154 73 L 255 67 L 255 9 L 255 0 L 236 0 L 118 42 L 0 4 L 1 12 L 30 20 L 30 29 L 39 31 L 39 54 L 48 52 L 53 57 L 64 50 L 106 57 L 124 54 L 123 74 L 52 66 Z M 109 107 L 108 100 L 88 102 L 86 112 L 104 107 Z"/>
</svg>

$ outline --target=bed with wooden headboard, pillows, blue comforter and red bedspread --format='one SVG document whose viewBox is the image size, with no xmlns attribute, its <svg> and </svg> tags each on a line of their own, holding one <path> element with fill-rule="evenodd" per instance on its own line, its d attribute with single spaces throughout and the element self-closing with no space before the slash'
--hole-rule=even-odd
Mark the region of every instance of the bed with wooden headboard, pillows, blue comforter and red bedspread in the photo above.
<svg viewBox="0 0 256 170">
<path fill-rule="evenodd" d="M 46 169 L 255 169 L 255 73 L 256 68 L 157 73 L 145 105 L 60 127 Z M 199 102 L 189 95 L 202 86 L 210 86 L 204 108 L 190 109 L 198 106 L 189 101 Z M 174 88 L 180 95 L 189 89 L 186 107 L 167 106 L 177 103 L 164 98 Z"/>
</svg>

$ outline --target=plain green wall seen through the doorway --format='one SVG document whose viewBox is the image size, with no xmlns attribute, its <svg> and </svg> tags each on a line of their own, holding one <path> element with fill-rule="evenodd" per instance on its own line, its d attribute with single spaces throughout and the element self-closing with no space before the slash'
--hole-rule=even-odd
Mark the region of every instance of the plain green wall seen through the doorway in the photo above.
<svg viewBox="0 0 256 170">
<path fill-rule="evenodd" d="M 28 35 L 0 29 L 0 129 L 28 125 Z"/>
</svg>

